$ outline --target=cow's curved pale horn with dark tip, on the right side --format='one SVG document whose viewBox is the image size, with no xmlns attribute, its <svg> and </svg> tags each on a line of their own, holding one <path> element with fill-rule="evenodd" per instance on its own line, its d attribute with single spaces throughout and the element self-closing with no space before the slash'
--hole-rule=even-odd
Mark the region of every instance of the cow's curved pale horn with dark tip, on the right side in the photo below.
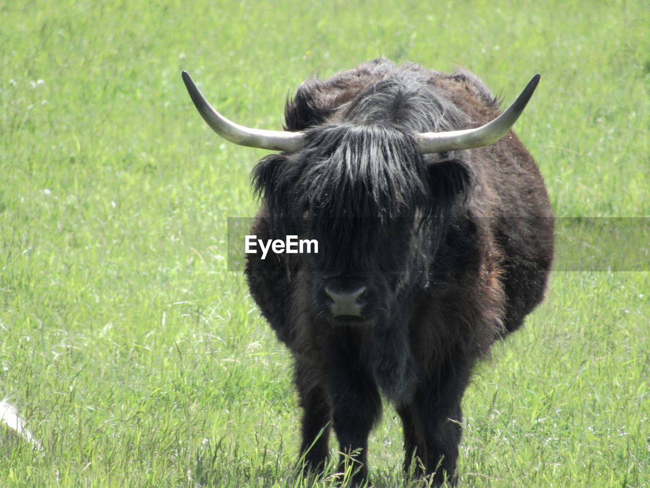
<svg viewBox="0 0 650 488">
<path fill-rule="evenodd" d="M 482 148 L 499 141 L 510 131 L 517 118 L 526 108 L 537 84 L 539 74 L 534 75 L 517 100 L 504 113 L 476 129 L 450 132 L 422 132 L 415 135 L 415 141 L 422 154 L 443 151 L 460 151 L 463 149 Z"/>
</svg>

